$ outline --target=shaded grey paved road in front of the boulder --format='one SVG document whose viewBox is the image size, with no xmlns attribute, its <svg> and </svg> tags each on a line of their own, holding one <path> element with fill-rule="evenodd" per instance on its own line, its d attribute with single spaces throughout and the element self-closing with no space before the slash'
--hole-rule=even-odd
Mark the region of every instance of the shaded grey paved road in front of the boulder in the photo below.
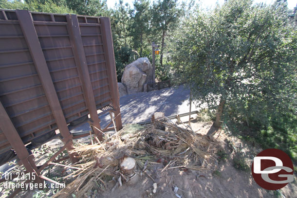
<svg viewBox="0 0 297 198">
<path fill-rule="evenodd" d="M 123 125 L 138 123 L 150 120 L 156 111 L 162 111 L 166 116 L 186 113 L 189 111 L 190 91 L 183 85 L 150 92 L 139 92 L 125 95 L 120 98 L 120 108 Z M 197 110 L 192 103 L 192 111 Z M 109 113 L 99 117 L 101 128 L 104 128 L 110 121 Z M 90 130 L 88 124 L 84 124 L 72 130 L 81 132 Z"/>
</svg>

